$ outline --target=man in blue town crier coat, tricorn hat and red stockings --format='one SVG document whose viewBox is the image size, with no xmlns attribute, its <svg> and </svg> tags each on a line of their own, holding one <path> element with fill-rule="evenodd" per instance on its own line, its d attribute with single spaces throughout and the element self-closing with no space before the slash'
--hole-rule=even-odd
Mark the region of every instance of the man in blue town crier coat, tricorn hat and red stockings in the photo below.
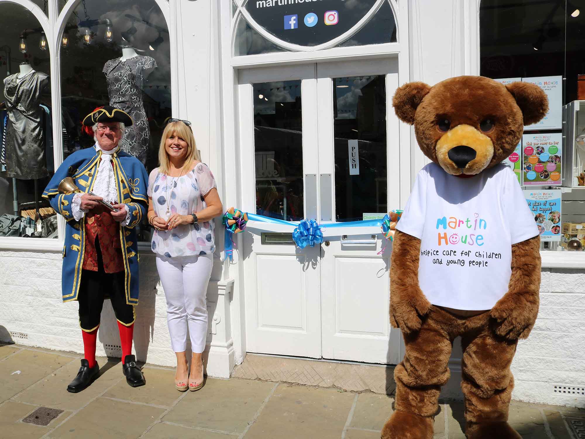
<svg viewBox="0 0 585 439">
<path fill-rule="evenodd" d="M 126 126 L 132 125 L 127 113 L 104 106 L 87 115 L 83 125 L 92 127 L 95 145 L 67 157 L 43 192 L 67 220 L 63 302 L 79 302 L 85 358 L 67 386 L 72 393 L 81 392 L 99 375 L 95 343 L 108 298 L 118 320 L 126 381 L 133 387 L 144 385 L 132 355 L 132 334 L 138 304 L 135 227 L 146 215 L 148 175 L 139 160 L 118 146 Z"/>
</svg>

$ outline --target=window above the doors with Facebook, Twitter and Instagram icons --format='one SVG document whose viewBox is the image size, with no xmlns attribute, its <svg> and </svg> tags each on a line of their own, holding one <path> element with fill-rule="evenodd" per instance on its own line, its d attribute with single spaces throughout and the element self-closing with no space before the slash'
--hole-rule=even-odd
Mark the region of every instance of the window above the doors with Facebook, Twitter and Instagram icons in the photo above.
<svg viewBox="0 0 585 439">
<path fill-rule="evenodd" d="M 395 43 L 390 0 L 240 0 L 232 3 L 235 56 Z"/>
</svg>

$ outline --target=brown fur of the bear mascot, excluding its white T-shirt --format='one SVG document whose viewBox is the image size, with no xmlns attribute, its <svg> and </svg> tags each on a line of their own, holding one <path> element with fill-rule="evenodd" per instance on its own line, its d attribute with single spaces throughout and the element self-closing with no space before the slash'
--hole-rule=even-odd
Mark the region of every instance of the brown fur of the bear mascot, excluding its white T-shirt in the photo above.
<svg viewBox="0 0 585 439">
<path fill-rule="evenodd" d="M 524 124 L 538 122 L 548 110 L 536 85 L 504 87 L 482 77 L 459 77 L 429 87 L 412 82 L 393 99 L 398 117 L 414 123 L 421 150 L 450 174 L 477 174 L 508 157 Z M 494 128 L 482 132 L 489 118 Z M 447 133 L 438 128 L 450 120 Z M 448 157 L 465 145 L 476 158 L 463 170 Z M 382 439 L 431 439 L 441 386 L 449 379 L 453 339 L 462 337 L 462 383 L 468 439 L 518 439 L 507 423 L 514 378 L 510 364 L 519 338 L 526 338 L 538 313 L 541 258 L 538 236 L 512 246 L 508 292 L 493 309 L 467 312 L 433 306 L 418 283 L 421 241 L 396 231 L 390 267 L 390 322 L 404 336 L 404 360 L 396 367 L 395 412 Z"/>
</svg>

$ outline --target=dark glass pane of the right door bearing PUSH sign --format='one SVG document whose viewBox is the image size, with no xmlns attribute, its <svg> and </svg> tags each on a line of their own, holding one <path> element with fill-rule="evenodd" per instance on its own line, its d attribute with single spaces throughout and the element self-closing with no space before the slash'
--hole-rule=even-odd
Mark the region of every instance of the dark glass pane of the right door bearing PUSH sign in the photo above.
<svg viewBox="0 0 585 439">
<path fill-rule="evenodd" d="M 386 77 L 333 79 L 335 220 L 387 213 Z"/>
</svg>

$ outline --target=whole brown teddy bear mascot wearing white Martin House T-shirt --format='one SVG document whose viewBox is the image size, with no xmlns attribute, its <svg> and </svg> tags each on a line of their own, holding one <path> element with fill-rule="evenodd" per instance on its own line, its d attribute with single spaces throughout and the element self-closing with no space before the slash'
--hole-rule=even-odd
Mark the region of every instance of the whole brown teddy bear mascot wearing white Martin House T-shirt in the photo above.
<svg viewBox="0 0 585 439">
<path fill-rule="evenodd" d="M 381 437 L 433 437 L 460 336 L 467 438 L 521 438 L 507 422 L 510 364 L 538 313 L 540 238 L 517 177 L 500 162 L 524 125 L 545 116 L 548 99 L 534 84 L 463 76 L 405 84 L 393 105 L 432 163 L 396 225 L 390 322 L 402 331 L 405 355 Z"/>
</svg>

